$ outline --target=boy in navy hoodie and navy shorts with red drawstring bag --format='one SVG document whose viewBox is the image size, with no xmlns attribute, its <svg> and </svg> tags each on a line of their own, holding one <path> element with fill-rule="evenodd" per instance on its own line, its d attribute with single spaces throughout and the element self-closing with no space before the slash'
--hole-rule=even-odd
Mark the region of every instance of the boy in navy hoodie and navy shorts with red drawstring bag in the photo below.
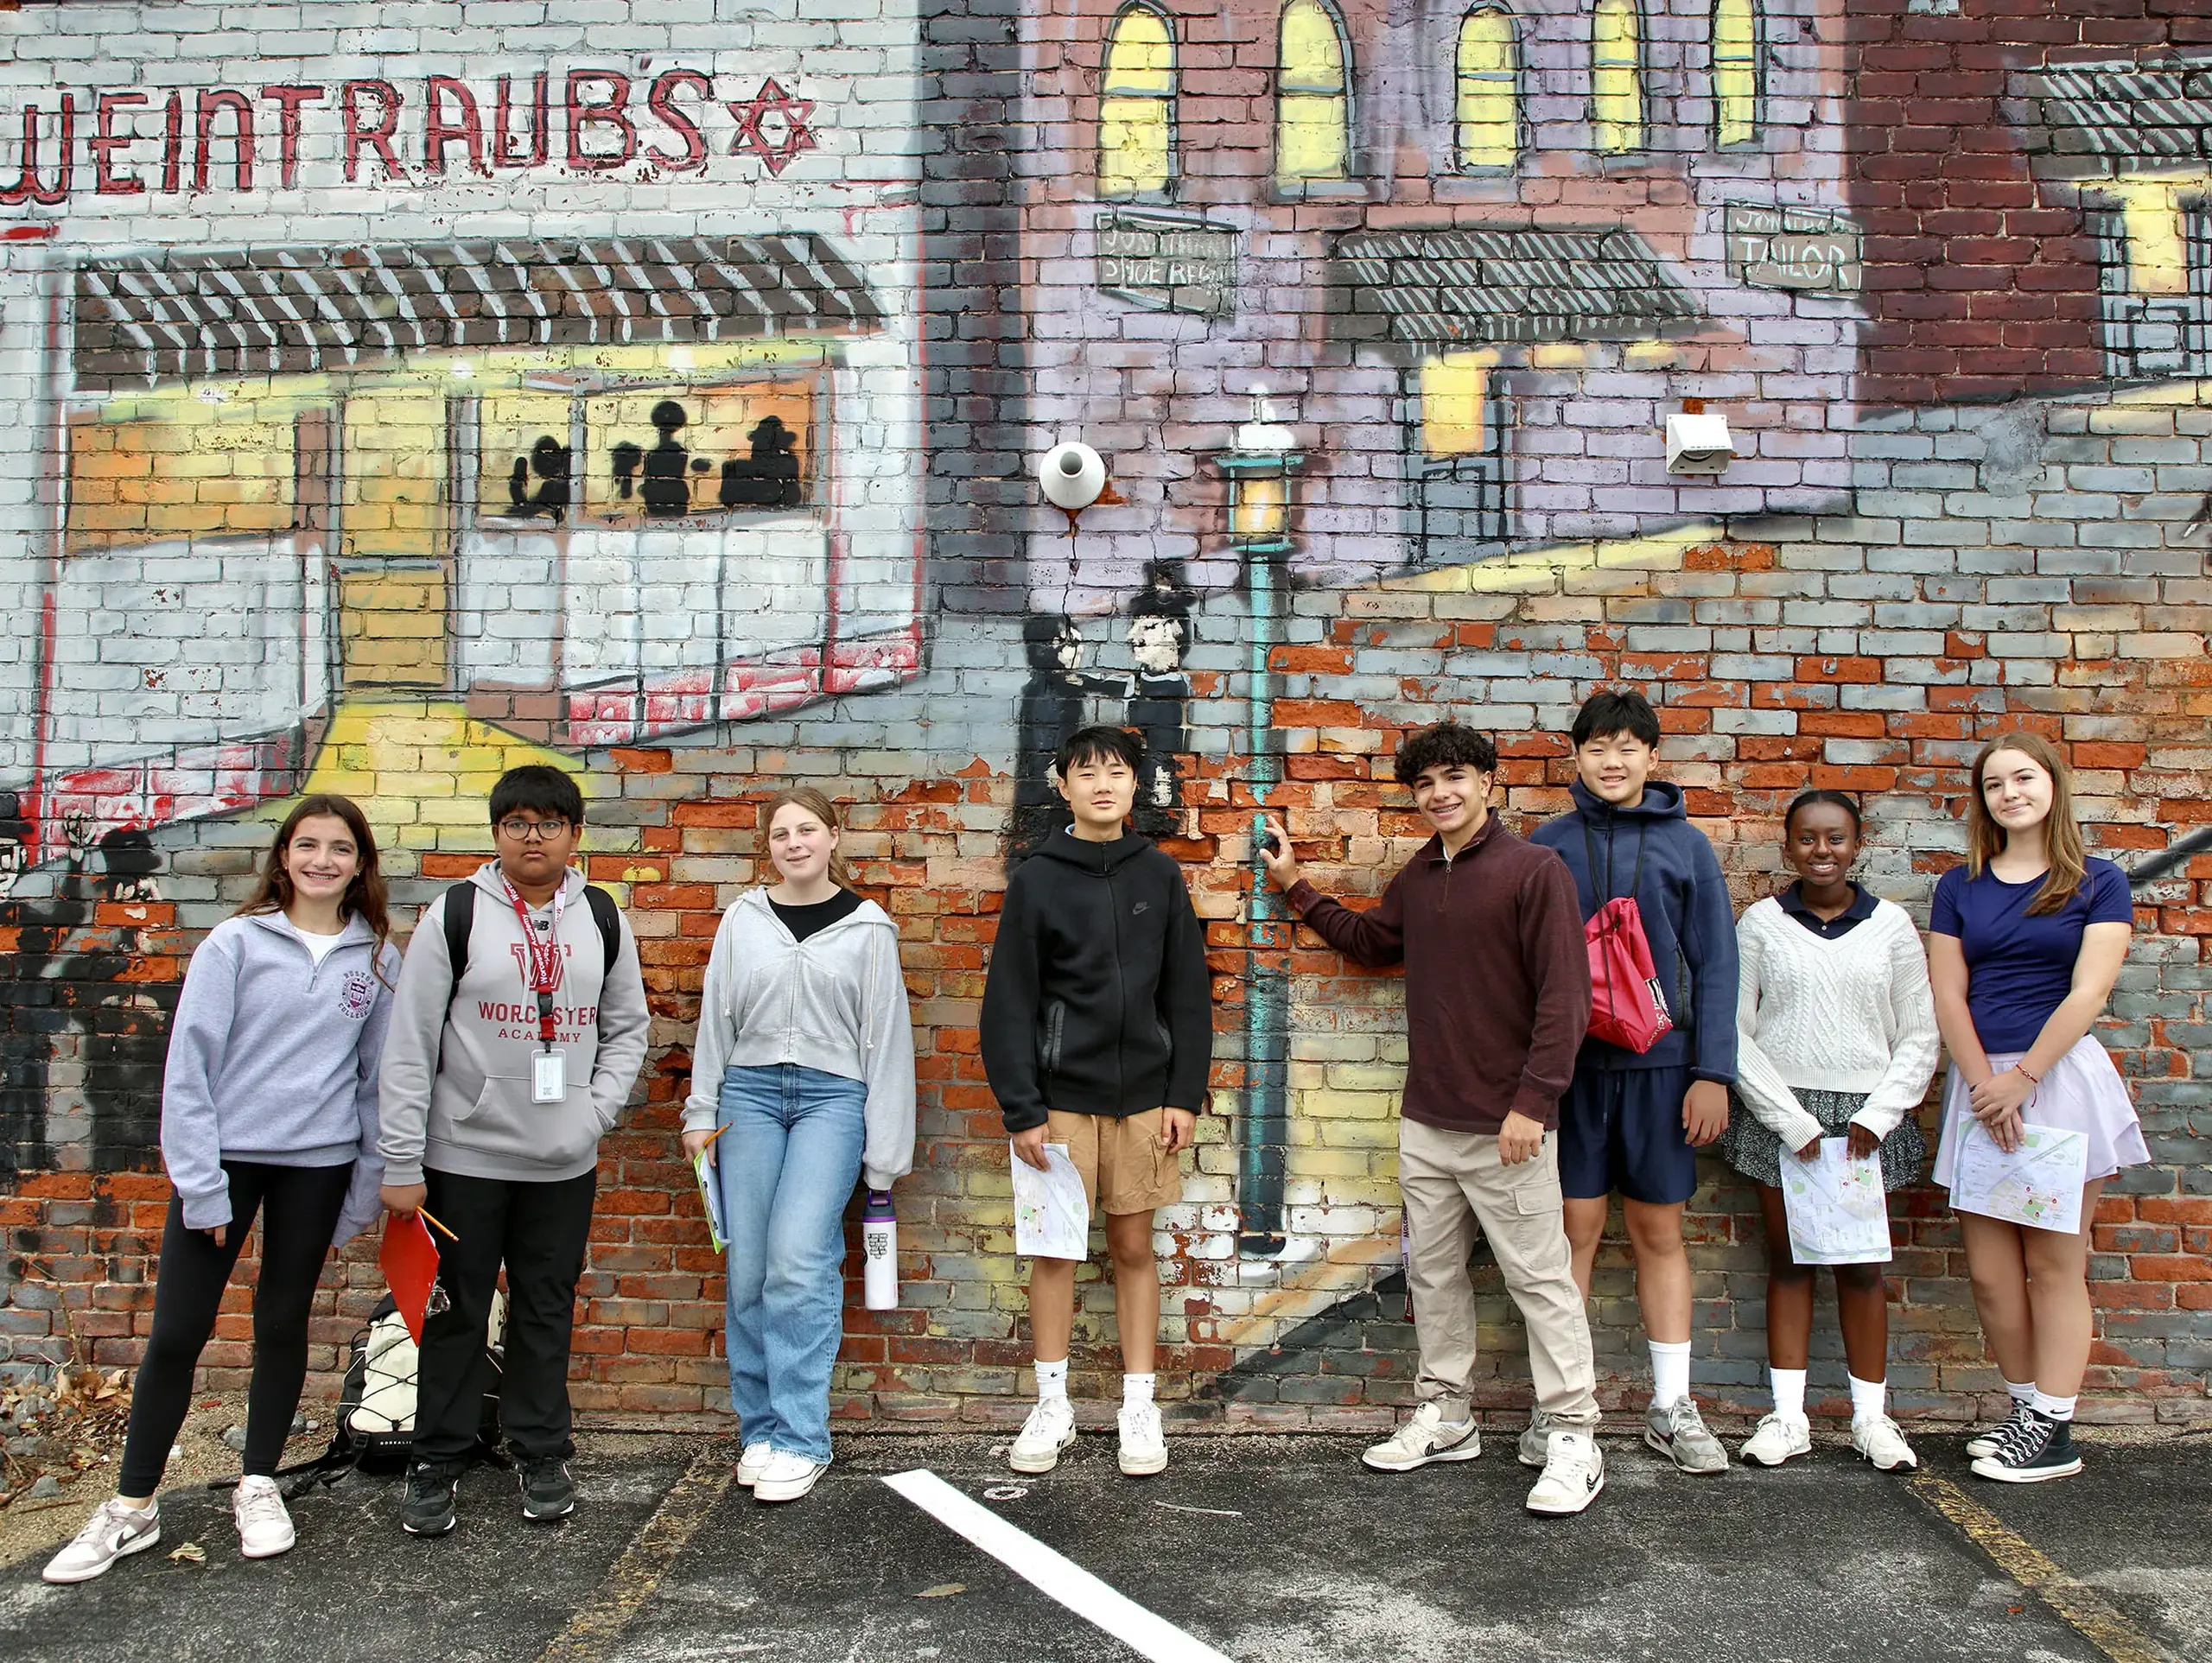
<svg viewBox="0 0 2212 1663">
<path fill-rule="evenodd" d="M 1697 1150 L 1728 1128 L 1736 1079 L 1736 920 L 1705 836 L 1683 814 L 1681 787 L 1650 778 L 1659 717 L 1641 692 L 1599 692 L 1575 717 L 1575 809 L 1528 838 L 1575 874 L 1588 920 L 1635 896 L 1672 1031 L 1646 1050 L 1584 1039 L 1559 1104 L 1559 1188 L 1575 1280 L 1590 1265 L 1615 1190 L 1637 1263 L 1637 1303 L 1652 1353 L 1644 1442 L 1683 1473 L 1725 1473 L 1721 1448 L 1690 1398 L 1690 1254 L 1681 1210 L 1697 1192 Z"/>
</svg>

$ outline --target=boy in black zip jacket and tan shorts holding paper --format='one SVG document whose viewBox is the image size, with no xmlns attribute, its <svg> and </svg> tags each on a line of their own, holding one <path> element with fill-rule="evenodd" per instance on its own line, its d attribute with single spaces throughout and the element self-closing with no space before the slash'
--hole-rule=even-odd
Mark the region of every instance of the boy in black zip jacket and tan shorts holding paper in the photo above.
<svg viewBox="0 0 2212 1663">
<path fill-rule="evenodd" d="M 1206 931 L 1183 871 L 1126 832 L 1141 776 L 1144 741 L 1119 728 L 1084 728 L 1060 745 L 1053 778 L 1075 823 L 1006 880 L 982 989 L 982 1066 L 1015 1159 L 1044 1168 L 1044 1146 L 1064 1143 L 1091 1205 L 1106 1212 L 1130 1475 L 1168 1464 L 1152 1404 L 1152 1210 L 1181 1199 L 1177 1152 L 1206 1106 L 1214 1044 Z M 1075 1442 L 1075 1263 L 1031 1261 L 1037 1406 L 1009 1453 L 1015 1473 L 1053 1471 Z"/>
</svg>

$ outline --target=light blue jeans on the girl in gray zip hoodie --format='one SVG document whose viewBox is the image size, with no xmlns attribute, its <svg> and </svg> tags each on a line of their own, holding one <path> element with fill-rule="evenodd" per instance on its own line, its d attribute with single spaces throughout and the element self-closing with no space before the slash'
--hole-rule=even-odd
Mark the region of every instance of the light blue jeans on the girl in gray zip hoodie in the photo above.
<svg viewBox="0 0 2212 1663">
<path fill-rule="evenodd" d="M 830 1460 L 830 1364 L 845 1338 L 845 1203 L 867 1086 L 818 1068 L 721 1077 L 714 1176 L 730 1216 L 730 1406 L 739 1440 Z"/>
</svg>

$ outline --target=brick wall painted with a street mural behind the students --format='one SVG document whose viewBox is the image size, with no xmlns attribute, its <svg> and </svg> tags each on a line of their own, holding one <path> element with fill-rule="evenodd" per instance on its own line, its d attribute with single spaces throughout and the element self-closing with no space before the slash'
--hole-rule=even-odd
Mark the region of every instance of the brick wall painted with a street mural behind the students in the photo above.
<svg viewBox="0 0 2212 1663">
<path fill-rule="evenodd" d="M 805 778 L 900 924 L 922 1146 L 854 1420 L 1018 1413 L 975 1008 L 1053 745 L 1146 734 L 1214 1108 L 1161 1214 L 1164 1395 L 1411 1395 L 1396 977 L 1254 887 L 1287 814 L 1376 893 L 1396 736 L 1566 803 L 1597 686 L 1661 708 L 1739 904 L 1860 792 L 1924 920 L 1964 765 L 2062 741 L 2137 942 L 2106 1042 L 2154 1165 L 2097 1221 L 2088 1413 L 2212 1380 L 2212 20 L 2159 0 L 542 0 L 0 11 L 0 1369 L 135 1358 L 166 1022 L 303 792 L 411 922 L 500 770 L 593 801 L 655 1000 L 577 1398 L 723 1413 L 677 1152 L 708 942 Z M 1663 422 L 1728 418 L 1721 473 Z M 1113 471 L 1079 524 L 1031 478 Z M 1756 1205 L 1692 1203 L 1697 1378 L 1759 1384 Z M 1933 1190 L 1893 1382 L 1997 1391 Z M 1480 1263 L 1482 1249 L 1478 1249 Z M 1086 1276 L 1091 1276 L 1086 1272 Z M 1526 1402 L 1486 1294 L 1491 1406 Z M 1608 1393 L 1641 1345 L 1599 1258 Z M 316 1367 L 376 1296 L 330 1272 Z M 1077 1376 L 1110 1362 L 1084 1283 Z M 246 1320 L 208 1351 L 243 1382 Z M 1832 1342 L 1832 1340 L 1829 1340 Z M 1818 1340 L 1816 1340 L 1818 1345 Z M 1840 1398 L 1816 1351 L 1816 1395 Z"/>
</svg>

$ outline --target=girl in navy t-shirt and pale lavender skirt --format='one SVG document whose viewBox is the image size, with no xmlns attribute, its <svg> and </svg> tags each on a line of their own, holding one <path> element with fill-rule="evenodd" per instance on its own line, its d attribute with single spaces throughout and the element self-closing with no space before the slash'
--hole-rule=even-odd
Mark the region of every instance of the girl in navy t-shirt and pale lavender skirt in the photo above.
<svg viewBox="0 0 2212 1663">
<path fill-rule="evenodd" d="M 2081 1471 L 2068 1433 L 2088 1371 L 2088 1232 L 2104 1181 L 2150 1159 L 2128 1086 L 2088 1037 L 2128 955 L 2128 878 L 2081 849 L 2066 761 L 2042 734 L 2006 734 L 1973 763 L 1966 865 L 1936 885 L 1929 973 L 1951 1050 L 1936 1183 L 1955 1188 L 1980 1126 L 2000 1150 L 2022 1128 L 2088 1141 L 2070 1234 L 1960 1212 L 1973 1305 L 2013 1418 L 1966 1444 L 1973 1471 L 2033 1484 Z"/>
</svg>

